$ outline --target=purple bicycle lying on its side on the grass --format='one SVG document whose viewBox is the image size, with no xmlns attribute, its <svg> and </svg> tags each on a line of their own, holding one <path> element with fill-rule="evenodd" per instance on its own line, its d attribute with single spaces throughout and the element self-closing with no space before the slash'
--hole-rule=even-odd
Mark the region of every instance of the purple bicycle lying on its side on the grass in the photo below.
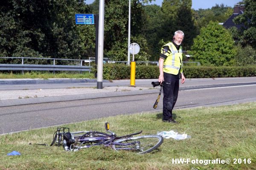
<svg viewBox="0 0 256 170">
<path fill-rule="evenodd" d="M 115 133 L 109 130 L 109 125 L 106 127 L 105 133 L 92 130 L 70 132 L 70 128 L 58 127 L 54 133 L 51 146 L 53 144 L 62 145 L 67 151 L 77 151 L 81 148 L 103 145 L 114 150 L 136 150 L 137 153 L 149 153 L 163 142 L 162 136 L 135 136 L 142 133 L 142 131 L 125 136 L 116 136 Z"/>
</svg>

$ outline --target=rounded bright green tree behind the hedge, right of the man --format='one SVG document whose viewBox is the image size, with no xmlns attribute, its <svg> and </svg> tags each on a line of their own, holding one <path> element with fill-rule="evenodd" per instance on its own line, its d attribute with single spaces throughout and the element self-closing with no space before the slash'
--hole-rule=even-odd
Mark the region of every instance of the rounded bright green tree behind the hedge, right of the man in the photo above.
<svg viewBox="0 0 256 170">
<path fill-rule="evenodd" d="M 233 65 L 234 42 L 229 31 L 217 22 L 210 21 L 194 39 L 189 54 L 201 65 Z"/>
</svg>

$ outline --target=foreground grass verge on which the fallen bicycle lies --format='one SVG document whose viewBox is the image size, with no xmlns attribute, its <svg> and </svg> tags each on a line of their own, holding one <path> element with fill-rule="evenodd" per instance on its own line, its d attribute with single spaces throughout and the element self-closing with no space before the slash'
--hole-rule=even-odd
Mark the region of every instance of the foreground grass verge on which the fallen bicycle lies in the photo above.
<svg viewBox="0 0 256 170">
<path fill-rule="evenodd" d="M 162 113 L 119 115 L 65 125 L 72 131 L 111 131 L 125 135 L 143 130 L 143 135 L 177 130 L 190 139 L 164 139 L 158 150 L 145 155 L 92 147 L 66 152 L 62 147 L 41 146 L 52 142 L 56 127 L 0 136 L 0 169 L 3 170 L 251 170 L 256 167 L 256 103 L 212 108 L 175 110 L 179 124 L 163 123 Z M 20 156 L 6 156 L 17 150 Z M 173 159 L 225 160 L 230 164 L 174 163 Z M 236 161 L 237 160 L 237 161 Z M 236 164 L 234 162 L 236 161 Z M 250 162 L 250 164 L 249 164 Z"/>
</svg>

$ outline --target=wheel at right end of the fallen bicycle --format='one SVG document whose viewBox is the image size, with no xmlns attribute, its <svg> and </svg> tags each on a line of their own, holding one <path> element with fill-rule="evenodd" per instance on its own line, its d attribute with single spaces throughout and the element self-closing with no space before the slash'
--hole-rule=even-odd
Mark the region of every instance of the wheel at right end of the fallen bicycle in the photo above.
<svg viewBox="0 0 256 170">
<path fill-rule="evenodd" d="M 114 150 L 131 150 L 137 154 L 150 153 L 163 143 L 163 137 L 159 135 L 135 136 L 118 139 L 113 142 Z"/>
</svg>

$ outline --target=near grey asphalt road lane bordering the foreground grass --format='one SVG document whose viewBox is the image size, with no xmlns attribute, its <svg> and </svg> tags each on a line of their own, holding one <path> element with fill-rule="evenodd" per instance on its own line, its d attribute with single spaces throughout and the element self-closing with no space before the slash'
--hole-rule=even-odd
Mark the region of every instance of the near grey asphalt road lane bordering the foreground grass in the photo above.
<svg viewBox="0 0 256 170">
<path fill-rule="evenodd" d="M 162 98 L 157 109 L 152 108 L 157 95 L 141 94 L 2 107 L 0 108 L 0 134 L 71 122 L 81 122 L 101 117 L 105 117 L 106 121 L 108 121 L 108 116 L 119 114 L 160 112 L 163 105 Z M 175 109 L 232 105 L 242 102 L 256 102 L 255 83 L 231 87 L 183 89 L 179 92 Z M 182 117 L 182 115 L 177 116 Z"/>
</svg>

